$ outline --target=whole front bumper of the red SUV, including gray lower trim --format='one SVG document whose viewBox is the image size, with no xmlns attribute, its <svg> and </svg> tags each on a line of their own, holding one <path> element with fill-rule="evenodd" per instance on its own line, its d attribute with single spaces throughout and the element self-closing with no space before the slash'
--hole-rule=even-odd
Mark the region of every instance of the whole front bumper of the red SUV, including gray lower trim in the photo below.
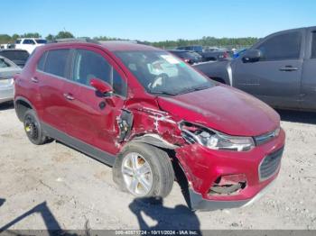
<svg viewBox="0 0 316 236">
<path fill-rule="evenodd" d="M 275 171 L 262 178 L 259 168 L 263 159 L 273 153 L 282 153 L 285 133 L 249 151 L 209 150 L 199 144 L 187 145 L 177 150 L 177 157 L 186 174 L 190 186 L 191 208 L 215 210 L 239 207 L 259 198 L 267 186 L 277 177 L 281 158 Z M 246 186 L 230 194 L 214 194 L 211 187 L 218 177 L 245 175 Z M 263 193 L 262 193 L 263 192 Z"/>
</svg>

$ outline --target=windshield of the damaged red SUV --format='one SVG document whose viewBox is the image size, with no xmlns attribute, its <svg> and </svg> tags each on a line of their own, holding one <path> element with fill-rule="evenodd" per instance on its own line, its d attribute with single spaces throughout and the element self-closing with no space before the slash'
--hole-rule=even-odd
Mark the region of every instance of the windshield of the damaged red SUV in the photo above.
<svg viewBox="0 0 316 236">
<path fill-rule="evenodd" d="M 116 56 L 151 94 L 179 95 L 214 86 L 166 51 L 116 51 Z"/>
</svg>

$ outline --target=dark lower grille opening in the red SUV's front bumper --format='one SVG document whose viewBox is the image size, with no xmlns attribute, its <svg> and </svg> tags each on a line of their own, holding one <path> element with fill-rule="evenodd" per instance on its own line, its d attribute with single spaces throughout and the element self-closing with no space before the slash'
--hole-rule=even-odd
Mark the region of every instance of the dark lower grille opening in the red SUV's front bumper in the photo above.
<svg viewBox="0 0 316 236">
<path fill-rule="evenodd" d="M 266 156 L 259 165 L 259 178 L 261 181 L 272 177 L 280 166 L 284 148 L 276 150 Z"/>
</svg>

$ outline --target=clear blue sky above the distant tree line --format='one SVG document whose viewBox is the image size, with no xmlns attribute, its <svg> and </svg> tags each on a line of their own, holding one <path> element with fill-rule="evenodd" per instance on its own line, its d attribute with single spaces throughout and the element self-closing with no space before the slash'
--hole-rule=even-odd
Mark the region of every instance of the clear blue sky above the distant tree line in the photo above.
<svg viewBox="0 0 316 236">
<path fill-rule="evenodd" d="M 15 0 L 1 3 L 0 33 L 60 31 L 140 41 L 264 37 L 316 25 L 315 0 Z"/>
</svg>

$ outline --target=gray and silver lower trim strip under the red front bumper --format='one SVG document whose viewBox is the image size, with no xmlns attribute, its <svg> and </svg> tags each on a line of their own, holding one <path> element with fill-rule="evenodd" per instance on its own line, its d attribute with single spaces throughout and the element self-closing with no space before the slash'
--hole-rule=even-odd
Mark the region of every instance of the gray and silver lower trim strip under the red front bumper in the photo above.
<svg viewBox="0 0 316 236">
<path fill-rule="evenodd" d="M 200 211 L 216 211 L 226 208 L 238 208 L 245 207 L 247 205 L 255 203 L 259 200 L 266 192 L 274 185 L 274 181 L 269 185 L 265 186 L 257 195 L 251 199 L 239 200 L 239 201 L 213 201 L 207 200 L 202 197 L 199 193 L 195 192 L 192 188 L 189 188 L 191 209 Z"/>
</svg>

